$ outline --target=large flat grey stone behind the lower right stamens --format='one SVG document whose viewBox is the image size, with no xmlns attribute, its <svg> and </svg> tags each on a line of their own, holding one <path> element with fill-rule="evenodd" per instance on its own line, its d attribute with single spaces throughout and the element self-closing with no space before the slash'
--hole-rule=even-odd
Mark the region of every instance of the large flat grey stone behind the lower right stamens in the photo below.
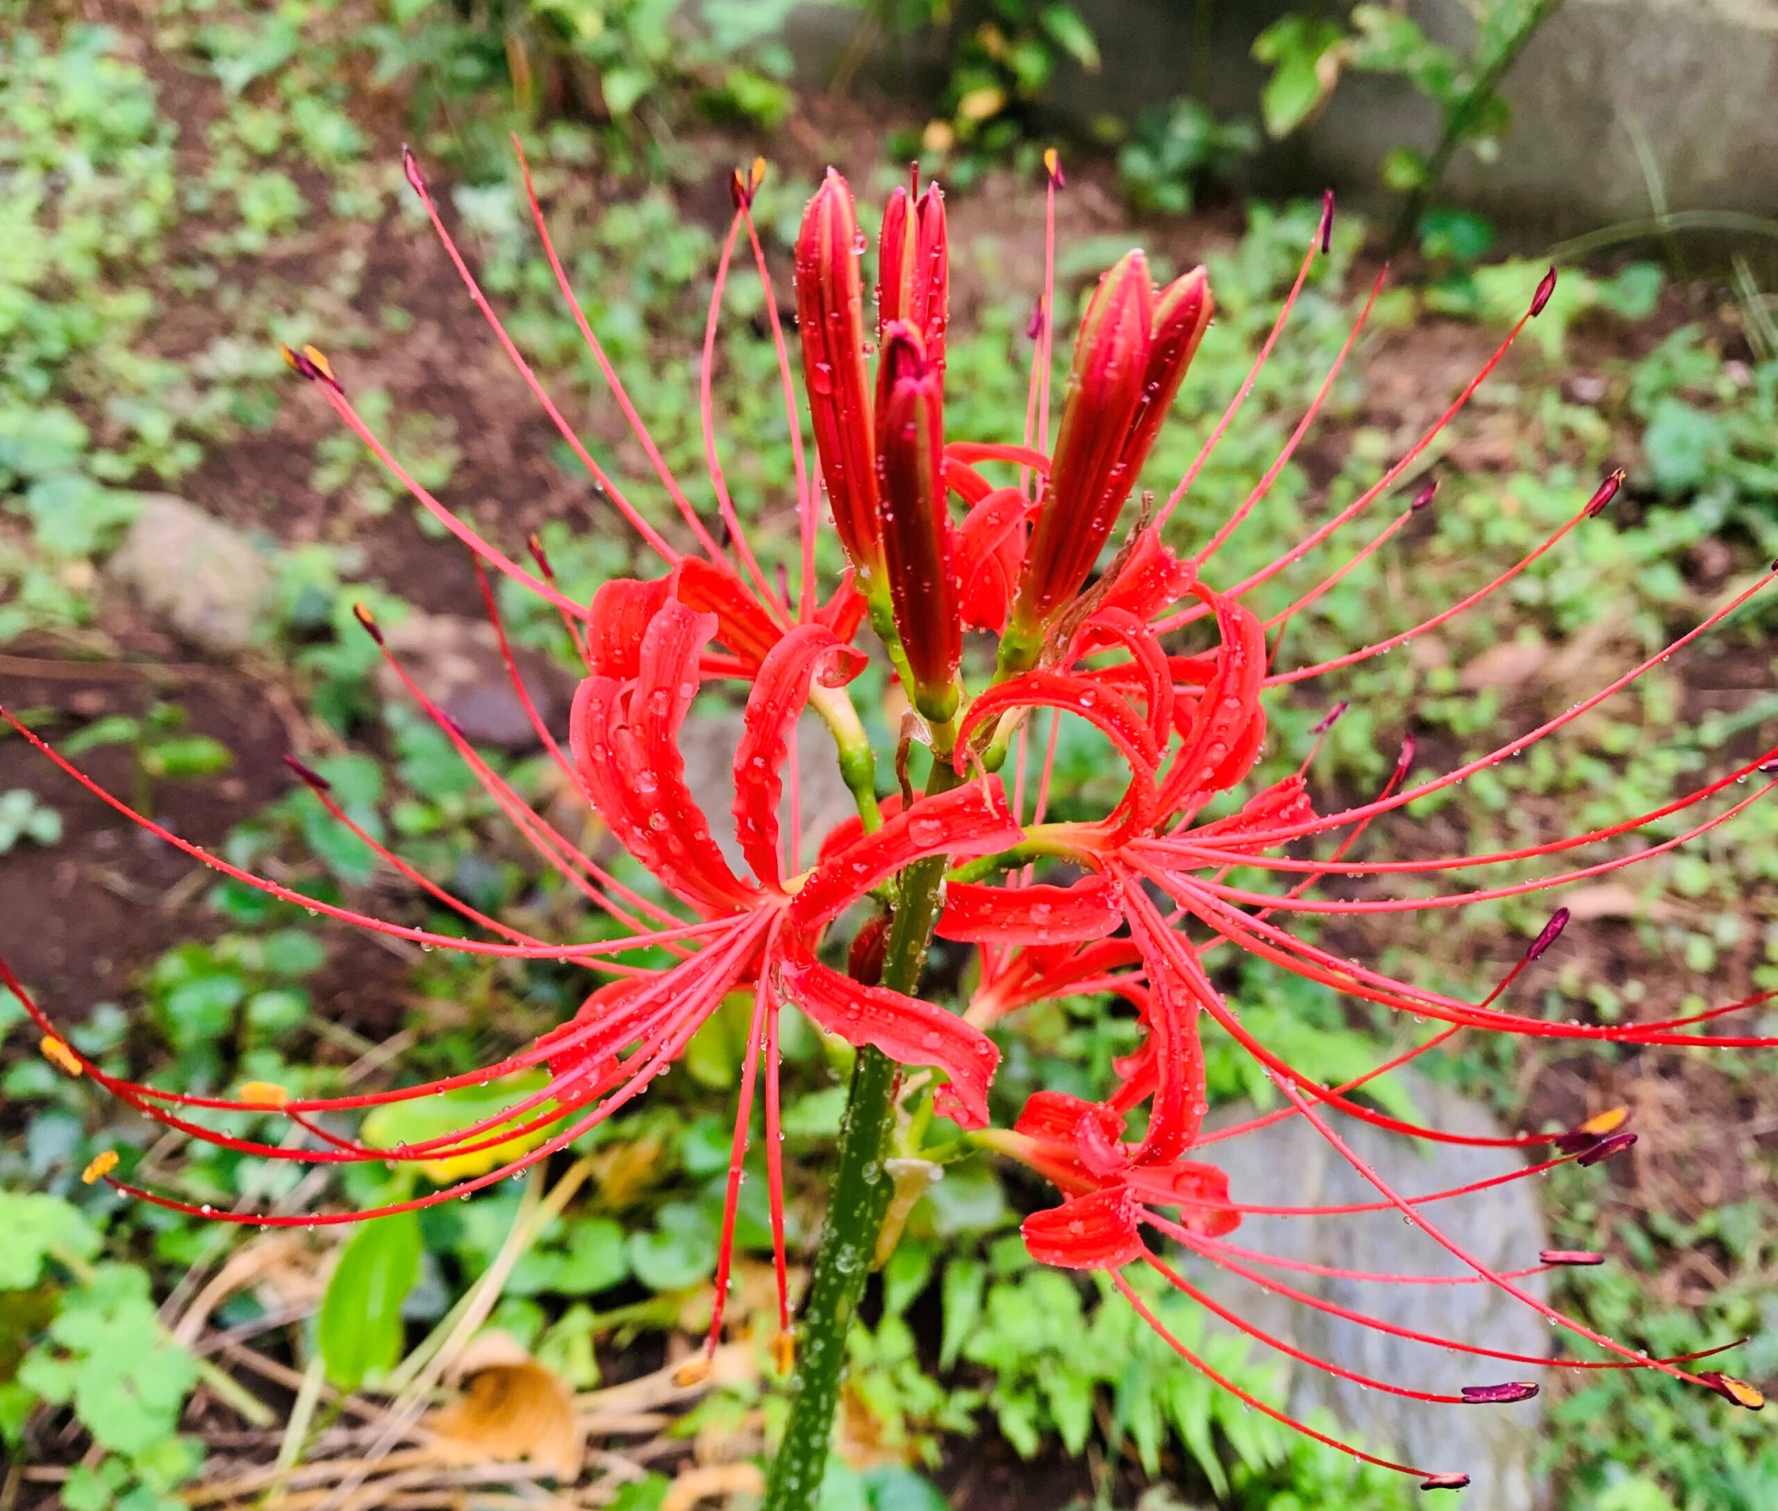
<svg viewBox="0 0 1778 1511">
<path fill-rule="evenodd" d="M 1499 1123 L 1476 1102 L 1421 1077 L 1408 1077 L 1406 1084 L 1421 1115 L 1419 1122 L 1458 1134 L 1501 1134 Z M 1250 1107 L 1227 1109 L 1211 1123 L 1229 1123 L 1250 1115 Z M 1344 1116 L 1332 1122 L 1358 1157 L 1401 1195 L 1463 1186 L 1510 1170 L 1515 1159 L 1511 1150 L 1430 1145 Z M 1376 1187 L 1300 1116 L 1213 1145 L 1205 1157 L 1229 1171 L 1230 1195 L 1239 1202 L 1342 1205 L 1380 1200 Z M 1536 1264 L 1538 1250 L 1549 1243 L 1529 1182 L 1440 1202 L 1426 1216 L 1494 1269 Z M 1229 1241 L 1278 1259 L 1341 1269 L 1472 1275 L 1396 1211 L 1337 1218 L 1248 1218 Z M 1394 1385 L 1456 1394 L 1463 1385 L 1540 1376 L 1534 1365 L 1453 1355 L 1442 1347 L 1387 1337 L 1273 1296 L 1211 1266 L 1198 1266 L 1193 1275 L 1232 1312 L 1266 1331 L 1319 1358 Z M 1494 1285 L 1378 1285 L 1293 1271 L 1269 1275 L 1319 1299 L 1417 1331 L 1540 1358 L 1550 1353 L 1550 1326 Z M 1545 1299 L 1542 1276 L 1518 1283 Z M 1253 1349 L 1261 1351 L 1261 1346 L 1253 1344 Z M 1410 1463 L 1431 1470 L 1467 1472 L 1472 1475 L 1472 1488 L 1465 1493 L 1465 1504 L 1486 1511 L 1533 1511 L 1538 1504 L 1534 1456 L 1542 1401 L 1510 1406 L 1422 1404 L 1291 1363 L 1291 1408 L 1298 1415 L 1326 1408 L 1346 1431 L 1371 1445 L 1396 1449 Z"/>
</svg>

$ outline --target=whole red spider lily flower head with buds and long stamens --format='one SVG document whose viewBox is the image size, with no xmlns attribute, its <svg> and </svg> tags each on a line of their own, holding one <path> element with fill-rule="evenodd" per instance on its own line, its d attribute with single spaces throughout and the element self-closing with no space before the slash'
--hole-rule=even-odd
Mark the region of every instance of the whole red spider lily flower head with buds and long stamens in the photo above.
<svg viewBox="0 0 1778 1511">
<path fill-rule="evenodd" d="M 781 1006 L 795 1003 L 827 1033 L 852 1045 L 880 1051 L 905 1067 L 909 1074 L 900 1095 L 930 1099 L 935 1115 L 953 1120 L 980 1145 L 1017 1161 L 1056 1189 L 1054 1203 L 1024 1221 L 1024 1241 L 1035 1259 L 1109 1275 L 1129 1303 L 1168 1337 L 1181 1356 L 1225 1388 L 1243 1395 L 1257 1410 L 1357 1458 L 1412 1474 L 1426 1488 L 1454 1488 L 1463 1483 L 1463 1475 L 1458 1470 L 1428 1470 L 1373 1456 L 1293 1422 L 1268 1403 L 1252 1401 L 1237 1385 L 1216 1376 L 1184 1340 L 1166 1333 L 1141 1292 L 1125 1280 L 1127 1267 L 1150 1267 L 1232 1326 L 1307 1367 L 1417 1401 L 1504 1404 L 1533 1395 L 1536 1385 L 1511 1379 L 1428 1392 L 1357 1374 L 1264 1333 L 1239 1308 L 1202 1291 L 1175 1260 L 1188 1255 L 1220 1266 L 1246 1283 L 1289 1296 L 1303 1307 L 1430 1347 L 1488 1360 L 1490 1367 L 1550 1362 L 1494 1349 L 1486 1340 L 1415 1331 L 1392 1323 L 1387 1305 L 1380 1312 L 1353 1310 L 1291 1285 L 1278 1271 L 1289 1273 L 1301 1266 L 1280 1266 L 1266 1253 L 1234 1243 L 1232 1235 L 1239 1232 L 1243 1216 L 1253 1211 L 1309 1214 L 1323 1209 L 1245 1203 L 1243 1193 L 1230 1191 L 1227 1177 L 1216 1166 L 1218 1143 L 1282 1118 L 1301 1118 L 1376 1191 L 1374 1202 L 1339 1211 L 1398 1211 L 1463 1266 L 1469 1283 L 1499 1287 L 1570 1337 L 1584 1339 L 1606 1355 L 1586 1362 L 1558 1360 L 1559 1367 L 1657 1369 L 1741 1406 L 1757 1408 L 1760 1395 L 1753 1387 L 1716 1371 L 1687 1369 L 1696 1356 L 1641 1356 L 1627 1344 L 1602 1337 L 1558 1312 L 1524 1283 L 1543 1269 L 1597 1264 L 1598 1255 L 1549 1250 L 1527 1255 L 1518 1269 L 1499 1271 L 1467 1253 L 1442 1227 L 1438 1209 L 1479 1187 L 1398 1191 L 1351 1148 L 1330 1115 L 1339 1113 L 1415 1139 L 1497 1147 L 1506 1161 L 1502 1173 L 1481 1182 L 1483 1186 L 1533 1177 L 1565 1161 L 1591 1164 L 1634 1141 L 1636 1134 L 1622 1127 L 1622 1113 L 1602 1115 L 1554 1136 L 1524 1132 L 1490 1139 L 1456 1136 L 1387 1115 L 1360 1093 L 1366 1083 L 1463 1031 L 1625 1045 L 1766 1045 L 1773 1040 L 1725 1036 L 1714 1027 L 1716 1019 L 1750 1008 L 1764 997 L 1654 1022 L 1552 1022 L 1513 1010 L 1508 997 L 1561 935 L 1568 921 L 1565 910 L 1556 910 L 1531 949 L 1499 972 L 1488 990 L 1472 997 L 1433 992 L 1355 958 L 1335 956 L 1293 930 L 1291 923 L 1316 915 L 1454 908 L 1558 889 L 1673 850 L 1760 800 L 1778 786 L 1771 766 L 1778 752 L 1723 770 L 1650 812 L 1627 814 L 1607 827 L 1542 844 L 1394 860 L 1355 855 L 1378 818 L 1399 812 L 1417 798 L 1451 789 L 1474 771 L 1574 724 L 1588 709 L 1636 683 L 1657 661 L 1709 633 L 1760 592 L 1766 580 L 1718 606 L 1659 656 L 1623 670 L 1566 713 L 1440 775 L 1408 780 L 1414 745 L 1406 738 L 1382 789 L 1357 803 L 1317 803 L 1309 761 L 1264 786 L 1250 780 L 1266 743 L 1266 706 L 1271 699 L 1285 697 L 1298 683 L 1337 674 L 1463 613 L 1559 548 L 1565 537 L 1584 528 L 1611 501 L 1620 484 L 1618 475 L 1600 484 L 1591 496 L 1577 498 L 1572 517 L 1520 562 L 1422 624 L 1317 661 L 1293 667 L 1277 663 L 1277 631 L 1303 606 L 1332 590 L 1358 562 L 1380 551 L 1431 501 L 1433 485 L 1421 476 L 1428 446 L 1502 359 L 1524 324 L 1543 308 L 1554 274 L 1534 292 L 1526 315 L 1474 380 L 1374 485 L 1301 539 L 1282 544 L 1261 571 L 1229 581 L 1229 574 L 1218 571 L 1218 551 L 1289 462 L 1339 364 L 1351 350 L 1364 316 L 1282 455 L 1255 480 L 1245 500 L 1229 501 L 1218 510 L 1214 532 L 1186 555 L 1168 544 L 1163 528 L 1245 400 L 1253 375 L 1209 432 L 1198 460 L 1159 507 L 1143 494 L 1131 508 L 1131 496 L 1211 320 L 1213 297 L 1202 268 L 1156 288 L 1141 252 L 1129 252 L 1104 274 L 1076 334 L 1054 439 L 1049 436 L 1049 373 L 1056 320 L 1054 288 L 1045 279 L 1031 325 L 1029 405 L 1022 428 L 1012 418 L 1005 434 L 953 437 L 946 434 L 944 416 L 949 272 L 942 194 L 937 187 L 921 190 L 916 183 L 889 197 L 878 238 L 873 379 L 861 270 L 866 238 L 845 180 L 829 172 L 807 206 L 795 258 L 797 332 L 788 338 L 779 324 L 770 268 L 752 219 L 761 172 L 763 167 L 756 164 L 749 172 L 734 176 L 734 219 L 717 265 L 704 343 L 701 412 L 709 484 L 720 516 L 717 524 L 693 508 L 637 420 L 621 377 L 581 315 L 537 199 L 530 196 L 537 231 L 562 295 L 619 407 L 637 425 L 661 494 L 677 512 L 677 521 L 663 528 L 605 473 L 549 400 L 482 297 L 423 176 L 407 160 L 409 181 L 494 340 L 512 357 L 521 379 L 617 514 L 660 558 L 660 574 L 608 581 L 590 603 L 560 592 L 535 544 L 535 569 L 521 565 L 414 482 L 357 412 L 347 386 L 325 357 L 315 350 L 288 354 L 295 372 L 313 384 L 340 420 L 423 508 L 469 548 L 478 571 L 493 569 L 512 578 L 560 612 L 585 668 L 565 743 L 555 738 L 532 708 L 516 674 L 514 686 L 530 709 L 537 740 L 549 759 L 615 841 L 658 880 L 658 894 L 624 885 L 532 811 L 432 706 L 395 656 L 388 649 L 384 654 L 494 803 L 535 848 L 541 862 L 574 889 L 589 908 L 617 921 L 615 937 L 590 942 L 544 940 L 475 910 L 382 848 L 356 825 L 318 775 L 292 761 L 297 777 L 316 791 L 336 821 L 352 828 L 388 866 L 434 903 L 459 914 L 473 930 L 471 937 L 443 935 L 316 903 L 130 812 L 37 734 L 12 722 L 27 741 L 112 807 L 192 859 L 261 891 L 439 949 L 583 967 L 592 985 L 580 1011 L 523 1051 L 466 1075 L 327 1099 L 293 1097 L 265 1084 L 220 1097 L 110 1075 L 82 1056 L 11 971 L 5 971 L 7 985 L 20 994 L 43 1029 L 44 1054 L 68 1074 L 91 1077 L 169 1129 L 263 1159 L 414 1164 L 505 1150 L 519 1136 L 530 1139 L 525 1154 L 503 1159 L 493 1170 L 370 1212 L 215 1214 L 242 1223 L 348 1223 L 379 1212 L 455 1200 L 548 1159 L 640 1097 L 731 994 L 747 992 L 752 1010 L 740 1068 L 740 1107 L 720 1234 L 711 1347 L 724 1328 L 741 1159 L 761 1083 L 779 1321 L 786 1337 L 791 1328 L 777 1036 Z M 528 171 L 525 181 L 530 194 Z M 1051 245 L 1045 247 L 1045 267 L 1051 268 L 1058 187 L 1060 172 L 1051 158 Z M 1326 251 L 1330 220 L 1332 203 L 1305 247 L 1296 281 L 1255 361 L 1255 375 L 1259 363 L 1277 343 L 1317 254 Z M 773 580 L 754 553 L 720 464 L 711 364 L 722 290 L 743 244 L 765 284 L 795 446 L 802 564 L 795 594 L 789 581 Z M 813 466 L 802 450 L 805 416 L 814 437 Z M 996 464 L 1010 469 L 1017 482 L 990 482 L 983 469 Z M 1271 613 L 1257 606 L 1259 588 L 1310 558 L 1398 491 L 1406 501 L 1392 508 L 1382 528 L 1326 565 L 1293 603 Z M 845 576 L 825 587 L 816 581 L 814 572 L 816 533 L 827 528 L 820 508 L 823 494 L 832 528 L 850 562 Z M 1122 537 L 1120 521 L 1127 523 Z M 487 612 L 500 629 L 485 576 L 482 587 Z M 375 622 L 370 615 L 361 617 L 380 645 Z M 882 652 L 917 715 L 917 727 L 910 727 L 910 734 L 933 752 L 932 777 L 921 793 L 907 786 L 905 775 L 901 793 L 885 796 L 878 789 L 875 754 L 848 693 L 848 684 L 869 660 L 869 649 L 862 644 L 866 626 L 875 629 Z M 976 636 L 981 654 L 965 654 L 969 636 Z M 715 679 L 736 683 L 745 692 L 745 724 L 734 754 L 734 832 L 745 871 L 731 866 L 715 844 L 709 816 L 699 809 L 686 784 L 681 754 L 688 706 L 699 688 Z M 789 748 L 793 727 L 805 709 L 813 709 L 832 731 L 837 761 L 859 805 L 857 818 L 821 841 L 813 864 L 805 864 L 800 851 L 795 818 L 789 825 L 781 823 L 786 805 L 791 814 L 797 812 L 797 768 Z M 1029 740 L 1031 715 L 1040 709 L 1051 711 L 1053 722 L 1072 718 L 1092 725 L 1127 768 L 1129 780 L 1120 798 L 1097 818 L 1045 818 L 1051 770 L 1037 754 L 1037 741 Z M 1342 704 L 1335 706 L 1317 732 L 1325 732 L 1341 709 Z M 1760 773 L 1760 780 L 1748 793 L 1712 802 L 1753 773 Z M 1702 811 L 1703 816 L 1691 819 L 1680 834 L 1629 848 L 1609 846 L 1611 841 L 1691 811 Z M 1586 850 L 1597 857 L 1607 846 L 1604 859 L 1579 864 L 1561 860 L 1570 851 Z M 1565 869 L 1499 885 L 1460 885 L 1412 896 L 1390 892 L 1390 883 L 1401 878 L 1463 876 L 1538 860 L 1550 860 Z M 1230 880 L 1234 873 L 1253 871 L 1277 876 L 1277 883 L 1253 889 Z M 1323 883 L 1334 876 L 1364 878 L 1366 887 L 1357 889 L 1360 896 L 1326 896 Z M 839 935 L 861 912 L 868 917 L 848 953 L 846 939 Z M 980 969 L 973 972 L 978 985 L 962 1004 L 964 1011 L 953 1011 L 919 994 L 919 960 L 932 933 L 980 953 Z M 654 951 L 654 958 L 665 951 L 669 963 L 638 963 L 644 949 Z M 1220 962 L 1232 951 L 1245 951 L 1305 981 L 1410 1015 L 1415 1022 L 1435 1020 L 1440 1029 L 1366 1075 L 1341 1086 L 1323 1086 L 1243 1024 L 1237 1004 L 1229 1001 L 1216 979 Z M 848 965 L 845 971 L 836 969 L 823 956 L 825 962 L 846 960 Z M 1006 1020 L 1021 1008 L 1077 994 L 1122 997 L 1140 1019 L 1140 1051 L 1117 1067 L 1115 1084 L 1106 1086 L 1099 1100 L 1038 1091 L 1012 1127 L 989 1127 L 989 1088 L 999 1051 L 987 1029 L 1010 1031 L 1013 1026 Z M 1284 1106 L 1245 1123 L 1205 1129 L 1200 1040 L 1205 1019 L 1264 1067 L 1280 1088 Z M 494 1116 L 448 1134 L 407 1147 L 377 1148 L 352 1132 L 352 1115 L 364 1109 L 430 1097 L 533 1067 L 546 1072 L 539 1090 Z M 281 1116 L 288 1120 L 293 1138 L 268 1139 L 235 1132 L 222 1115 Z M 1527 1150 L 1538 1152 L 1534 1163 L 1515 1163 Z M 146 1189 L 123 1179 L 116 1173 L 116 1157 L 98 1161 L 89 1177 L 108 1180 L 144 1202 L 185 1212 L 206 1211 L 176 1193 Z M 1389 1285 L 1451 1283 L 1449 1278 L 1415 1275 L 1328 1273 L 1380 1291 Z"/>
</svg>

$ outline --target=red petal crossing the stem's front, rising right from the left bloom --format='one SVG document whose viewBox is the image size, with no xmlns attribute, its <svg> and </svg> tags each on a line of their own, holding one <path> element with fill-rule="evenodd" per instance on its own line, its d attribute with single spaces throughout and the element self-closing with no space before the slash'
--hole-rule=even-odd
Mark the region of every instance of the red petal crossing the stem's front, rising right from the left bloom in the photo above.
<svg viewBox="0 0 1778 1511">
<path fill-rule="evenodd" d="M 875 834 L 861 835 L 816 866 L 791 899 L 791 924 L 798 933 L 814 937 L 903 866 L 926 855 L 951 855 L 958 860 L 994 855 L 1010 850 L 1022 837 L 997 779 L 965 782 L 948 793 L 919 798 L 905 812 L 885 819 Z"/>
</svg>

